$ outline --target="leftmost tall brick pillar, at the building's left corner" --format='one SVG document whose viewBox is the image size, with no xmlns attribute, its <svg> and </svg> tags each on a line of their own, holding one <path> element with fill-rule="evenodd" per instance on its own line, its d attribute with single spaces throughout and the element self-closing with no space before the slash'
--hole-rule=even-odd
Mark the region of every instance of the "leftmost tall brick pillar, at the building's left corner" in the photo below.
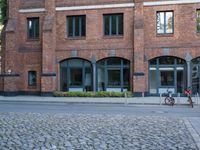
<svg viewBox="0 0 200 150">
<path fill-rule="evenodd" d="M 19 0 L 7 1 L 8 21 L 3 31 L 1 81 L 3 82 L 3 92 L 8 96 L 16 95 L 19 91 L 19 70 L 16 63 L 19 62 L 16 30 L 19 3 Z"/>
</svg>

